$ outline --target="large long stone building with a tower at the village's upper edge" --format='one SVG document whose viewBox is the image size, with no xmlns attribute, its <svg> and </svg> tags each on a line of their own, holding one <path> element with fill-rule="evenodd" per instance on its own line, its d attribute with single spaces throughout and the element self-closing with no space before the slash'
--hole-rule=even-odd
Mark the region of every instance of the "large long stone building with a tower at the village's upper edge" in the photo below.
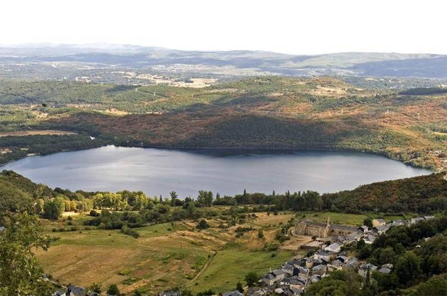
<svg viewBox="0 0 447 296">
<path fill-rule="evenodd" d="M 336 235 L 349 235 L 354 232 L 357 232 L 356 227 L 331 224 L 329 218 L 326 223 L 317 223 L 310 219 L 301 220 L 296 223 L 295 227 L 296 235 L 309 235 L 323 238 Z"/>
</svg>

